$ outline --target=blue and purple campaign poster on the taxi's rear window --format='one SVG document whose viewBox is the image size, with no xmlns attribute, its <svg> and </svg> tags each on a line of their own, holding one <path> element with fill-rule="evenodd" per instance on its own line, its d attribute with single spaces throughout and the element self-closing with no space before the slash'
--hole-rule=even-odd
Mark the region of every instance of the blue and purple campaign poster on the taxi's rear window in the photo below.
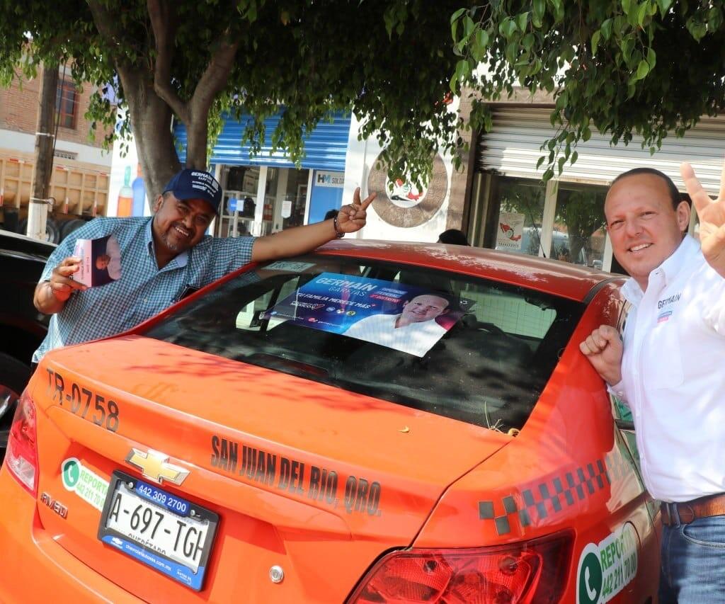
<svg viewBox="0 0 725 604">
<path fill-rule="evenodd" d="M 322 273 L 278 302 L 265 319 L 422 357 L 473 303 L 452 292 L 337 273 Z"/>
</svg>

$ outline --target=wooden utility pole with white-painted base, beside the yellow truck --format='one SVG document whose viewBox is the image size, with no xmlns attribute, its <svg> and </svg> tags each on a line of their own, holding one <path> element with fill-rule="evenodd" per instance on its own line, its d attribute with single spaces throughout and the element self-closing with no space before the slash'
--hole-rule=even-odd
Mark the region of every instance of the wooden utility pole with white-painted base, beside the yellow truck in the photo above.
<svg viewBox="0 0 725 604">
<path fill-rule="evenodd" d="M 43 65 L 43 84 L 36 128 L 36 173 L 33 178 L 33 194 L 30 196 L 30 204 L 28 204 L 27 233 L 33 239 L 46 239 L 46 221 L 49 210 L 46 199 L 50 191 L 50 177 L 53 173 L 57 90 L 58 65 Z"/>
</svg>

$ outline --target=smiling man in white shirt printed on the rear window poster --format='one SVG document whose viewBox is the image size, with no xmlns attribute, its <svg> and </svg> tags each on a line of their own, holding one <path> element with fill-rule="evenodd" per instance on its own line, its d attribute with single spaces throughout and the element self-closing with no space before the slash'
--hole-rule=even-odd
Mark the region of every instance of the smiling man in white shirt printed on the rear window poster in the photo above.
<svg viewBox="0 0 725 604">
<path fill-rule="evenodd" d="M 436 323 L 436 317 L 442 315 L 448 305 L 443 296 L 423 294 L 405 302 L 399 315 L 365 317 L 343 333 L 422 357 L 446 333 L 446 329 Z"/>
</svg>

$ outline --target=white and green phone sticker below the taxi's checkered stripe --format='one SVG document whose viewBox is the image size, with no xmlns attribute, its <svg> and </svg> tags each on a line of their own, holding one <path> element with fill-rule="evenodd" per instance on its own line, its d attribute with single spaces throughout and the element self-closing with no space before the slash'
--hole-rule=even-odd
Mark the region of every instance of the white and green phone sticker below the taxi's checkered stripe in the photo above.
<svg viewBox="0 0 725 604">
<path fill-rule="evenodd" d="M 637 575 L 637 530 L 627 522 L 598 544 L 584 546 L 576 568 L 576 604 L 604 604 Z"/>
</svg>

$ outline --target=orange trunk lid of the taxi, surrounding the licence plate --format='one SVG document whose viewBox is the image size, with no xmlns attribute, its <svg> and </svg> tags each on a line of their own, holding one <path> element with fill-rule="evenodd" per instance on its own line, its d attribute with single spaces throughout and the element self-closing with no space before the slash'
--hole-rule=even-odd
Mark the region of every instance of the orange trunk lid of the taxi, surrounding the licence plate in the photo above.
<svg viewBox="0 0 725 604">
<path fill-rule="evenodd" d="M 219 516 L 201 597 L 341 602 L 381 553 L 413 542 L 453 481 L 510 440 L 138 336 L 49 354 L 30 393 L 41 524 L 154 601 L 199 595 L 98 536 L 104 483 L 115 470 L 140 477 L 126 462 L 132 449 L 188 470 L 180 486 L 160 488 Z"/>
</svg>

